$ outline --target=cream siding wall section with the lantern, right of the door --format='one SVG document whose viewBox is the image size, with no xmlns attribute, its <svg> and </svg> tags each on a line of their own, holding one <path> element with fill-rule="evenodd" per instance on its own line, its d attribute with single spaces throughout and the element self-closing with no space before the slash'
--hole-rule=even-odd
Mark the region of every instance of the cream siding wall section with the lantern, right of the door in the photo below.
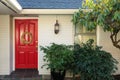
<svg viewBox="0 0 120 80">
<path fill-rule="evenodd" d="M 56 19 L 60 24 L 60 32 L 54 33 L 54 24 Z M 72 15 L 39 15 L 39 27 L 38 27 L 38 46 L 49 45 L 50 43 L 58 44 L 73 44 L 74 32 L 73 24 L 71 23 Z M 50 74 L 49 70 L 41 68 L 44 64 L 42 51 L 39 53 L 39 74 Z"/>
</svg>

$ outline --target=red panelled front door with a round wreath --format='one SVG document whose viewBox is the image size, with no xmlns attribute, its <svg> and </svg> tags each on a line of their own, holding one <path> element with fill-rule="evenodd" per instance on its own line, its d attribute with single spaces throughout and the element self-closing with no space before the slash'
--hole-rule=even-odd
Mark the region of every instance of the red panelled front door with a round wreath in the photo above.
<svg viewBox="0 0 120 80">
<path fill-rule="evenodd" d="M 38 20 L 15 20 L 15 68 L 38 68 Z"/>
</svg>

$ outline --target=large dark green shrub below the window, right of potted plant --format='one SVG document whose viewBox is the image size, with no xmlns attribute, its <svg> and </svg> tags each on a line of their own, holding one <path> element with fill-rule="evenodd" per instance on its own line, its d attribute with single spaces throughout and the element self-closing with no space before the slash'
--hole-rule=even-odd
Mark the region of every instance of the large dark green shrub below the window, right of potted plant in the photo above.
<svg viewBox="0 0 120 80">
<path fill-rule="evenodd" d="M 113 80 L 111 74 L 116 71 L 117 61 L 109 52 L 99 46 L 93 46 L 93 40 L 88 40 L 74 47 L 74 63 L 80 80 Z"/>
</svg>

